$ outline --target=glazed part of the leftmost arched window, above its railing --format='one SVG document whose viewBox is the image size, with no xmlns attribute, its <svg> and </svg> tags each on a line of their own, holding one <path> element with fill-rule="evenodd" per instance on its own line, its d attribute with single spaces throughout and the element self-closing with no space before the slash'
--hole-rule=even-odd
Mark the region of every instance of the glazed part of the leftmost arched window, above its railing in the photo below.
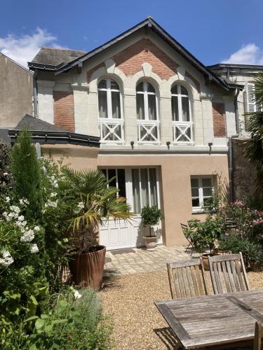
<svg viewBox="0 0 263 350">
<path fill-rule="evenodd" d="M 121 118 L 119 85 L 112 79 L 102 79 L 97 87 L 100 118 Z"/>
</svg>

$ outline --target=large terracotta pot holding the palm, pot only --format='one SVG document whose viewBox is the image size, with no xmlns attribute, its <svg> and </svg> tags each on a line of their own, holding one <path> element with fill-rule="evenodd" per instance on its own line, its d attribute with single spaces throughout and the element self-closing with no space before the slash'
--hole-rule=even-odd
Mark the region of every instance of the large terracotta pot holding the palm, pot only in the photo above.
<svg viewBox="0 0 263 350">
<path fill-rule="evenodd" d="M 88 253 L 76 254 L 69 263 L 74 283 L 100 290 L 106 254 L 105 246 L 93 246 Z"/>
</svg>

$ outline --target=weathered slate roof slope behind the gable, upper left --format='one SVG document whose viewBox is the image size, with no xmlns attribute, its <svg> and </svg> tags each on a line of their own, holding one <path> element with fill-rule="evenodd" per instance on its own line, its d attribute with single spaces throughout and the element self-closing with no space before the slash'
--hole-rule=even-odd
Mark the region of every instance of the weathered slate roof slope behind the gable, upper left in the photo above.
<svg viewBox="0 0 263 350">
<path fill-rule="evenodd" d="M 58 66 L 62 63 L 67 64 L 72 62 L 74 59 L 81 57 L 86 53 L 86 51 L 43 47 L 37 52 L 36 56 L 32 59 L 32 62 Z"/>
</svg>

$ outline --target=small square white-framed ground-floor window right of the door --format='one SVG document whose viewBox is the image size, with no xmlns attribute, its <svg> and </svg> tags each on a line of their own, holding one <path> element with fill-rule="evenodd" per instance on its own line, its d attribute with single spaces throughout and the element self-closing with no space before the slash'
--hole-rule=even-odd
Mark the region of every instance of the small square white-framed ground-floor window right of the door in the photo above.
<svg viewBox="0 0 263 350">
<path fill-rule="evenodd" d="M 201 211 L 213 197 L 213 176 L 191 176 L 191 206 L 193 211 Z"/>
</svg>

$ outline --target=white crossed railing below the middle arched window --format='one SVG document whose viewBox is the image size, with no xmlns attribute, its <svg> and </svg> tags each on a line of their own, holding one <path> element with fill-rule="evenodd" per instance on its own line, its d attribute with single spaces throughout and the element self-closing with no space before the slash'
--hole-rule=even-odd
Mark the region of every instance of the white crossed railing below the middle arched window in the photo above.
<svg viewBox="0 0 263 350">
<path fill-rule="evenodd" d="M 159 144 L 159 120 L 137 120 L 138 142 Z"/>
</svg>

